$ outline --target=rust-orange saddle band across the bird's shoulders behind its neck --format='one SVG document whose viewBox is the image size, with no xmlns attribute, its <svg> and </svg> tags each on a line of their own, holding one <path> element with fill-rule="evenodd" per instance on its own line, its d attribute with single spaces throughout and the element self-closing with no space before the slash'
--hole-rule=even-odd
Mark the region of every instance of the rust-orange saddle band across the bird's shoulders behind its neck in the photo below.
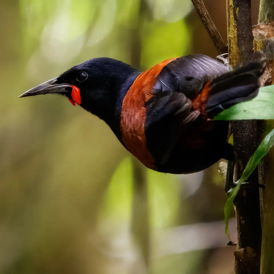
<svg viewBox="0 0 274 274">
<path fill-rule="evenodd" d="M 154 158 L 146 146 L 144 103 L 152 97 L 152 88 L 162 68 L 177 58 L 165 60 L 142 72 L 129 88 L 122 103 L 120 126 L 123 141 L 138 160 L 154 170 Z"/>
</svg>

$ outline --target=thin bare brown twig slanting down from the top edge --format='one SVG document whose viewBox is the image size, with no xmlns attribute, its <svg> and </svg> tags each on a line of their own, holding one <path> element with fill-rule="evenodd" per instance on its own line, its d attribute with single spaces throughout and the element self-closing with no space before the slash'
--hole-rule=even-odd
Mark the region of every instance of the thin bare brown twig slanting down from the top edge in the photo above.
<svg viewBox="0 0 274 274">
<path fill-rule="evenodd" d="M 223 39 L 213 23 L 205 5 L 202 0 L 191 0 L 210 39 L 212 40 L 215 48 L 219 54 L 227 53 L 227 46 L 223 42 Z"/>
</svg>

